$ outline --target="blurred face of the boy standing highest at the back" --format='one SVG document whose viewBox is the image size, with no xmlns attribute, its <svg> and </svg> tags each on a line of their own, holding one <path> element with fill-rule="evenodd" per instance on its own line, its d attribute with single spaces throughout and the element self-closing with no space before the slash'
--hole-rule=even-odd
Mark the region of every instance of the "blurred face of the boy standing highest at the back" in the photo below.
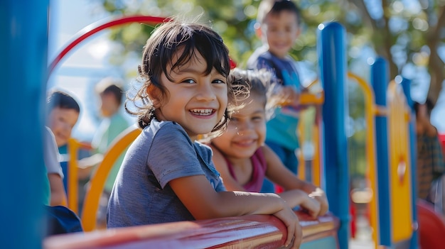
<svg viewBox="0 0 445 249">
<path fill-rule="evenodd" d="M 269 51 L 277 57 L 285 57 L 289 53 L 300 33 L 296 15 L 291 11 L 269 13 L 264 18 L 262 29 Z"/>
</svg>

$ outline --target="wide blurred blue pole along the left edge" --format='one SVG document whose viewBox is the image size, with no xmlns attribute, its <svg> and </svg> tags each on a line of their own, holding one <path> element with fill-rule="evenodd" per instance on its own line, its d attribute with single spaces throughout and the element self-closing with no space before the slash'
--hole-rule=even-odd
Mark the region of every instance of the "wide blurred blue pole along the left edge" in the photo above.
<svg viewBox="0 0 445 249">
<path fill-rule="evenodd" d="M 49 0 L 0 1 L 1 248 L 41 248 L 45 231 L 48 5 Z"/>
</svg>

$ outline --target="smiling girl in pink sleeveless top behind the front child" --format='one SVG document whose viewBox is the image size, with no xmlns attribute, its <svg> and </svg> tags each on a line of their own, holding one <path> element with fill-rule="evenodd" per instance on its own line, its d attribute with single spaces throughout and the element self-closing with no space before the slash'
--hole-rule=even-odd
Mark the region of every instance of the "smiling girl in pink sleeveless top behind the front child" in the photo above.
<svg viewBox="0 0 445 249">
<path fill-rule="evenodd" d="M 232 114 L 227 131 L 212 138 L 213 162 L 227 190 L 259 192 L 264 177 L 283 187 L 279 195 L 291 207 L 300 206 L 313 216 L 326 214 L 328 200 L 319 187 L 304 182 L 288 170 L 279 157 L 264 144 L 267 110 L 286 99 L 277 94 L 272 77 L 264 70 L 239 70 L 230 72 L 232 84 L 250 87 L 245 105 Z M 272 93 L 272 94 L 270 94 Z"/>
</svg>

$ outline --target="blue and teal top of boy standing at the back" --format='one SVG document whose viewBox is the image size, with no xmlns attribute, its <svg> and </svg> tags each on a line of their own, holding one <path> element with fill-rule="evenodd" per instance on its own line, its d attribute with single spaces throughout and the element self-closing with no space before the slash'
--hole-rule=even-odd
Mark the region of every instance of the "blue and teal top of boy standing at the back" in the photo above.
<svg viewBox="0 0 445 249">
<path fill-rule="evenodd" d="M 296 62 L 290 57 L 279 58 L 269 52 L 266 46 L 258 48 L 247 61 L 247 68 L 266 68 L 274 72 L 277 82 L 284 86 L 293 86 L 301 90 Z M 267 121 L 266 140 L 282 145 L 289 150 L 299 148 L 296 129 L 299 122 L 299 110 L 291 106 L 276 109 L 272 118 Z"/>
</svg>

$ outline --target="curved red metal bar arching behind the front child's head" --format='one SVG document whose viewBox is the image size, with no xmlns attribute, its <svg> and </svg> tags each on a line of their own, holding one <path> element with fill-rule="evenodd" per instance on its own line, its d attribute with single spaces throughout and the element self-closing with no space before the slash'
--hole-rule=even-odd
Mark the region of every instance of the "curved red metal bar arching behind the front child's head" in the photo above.
<svg viewBox="0 0 445 249">
<path fill-rule="evenodd" d="M 96 23 L 92 23 L 89 26 L 86 26 L 83 28 L 77 35 L 75 35 L 75 38 L 71 43 L 69 43 L 63 50 L 60 52 L 51 62 L 50 66 L 48 67 L 48 75 L 50 75 L 55 67 L 58 65 L 60 60 L 65 57 L 65 55 L 70 52 L 76 45 L 81 43 L 86 38 L 89 38 L 91 35 L 94 35 L 95 33 L 104 30 L 105 28 L 111 28 L 116 26 L 121 26 L 123 24 L 127 23 L 162 23 L 163 21 L 167 21 L 168 18 L 158 17 L 158 16 L 124 16 L 122 18 L 117 18 L 113 21 L 106 21 L 103 23 L 103 21 L 98 21 Z M 100 24 L 102 23 L 102 24 Z"/>
</svg>

